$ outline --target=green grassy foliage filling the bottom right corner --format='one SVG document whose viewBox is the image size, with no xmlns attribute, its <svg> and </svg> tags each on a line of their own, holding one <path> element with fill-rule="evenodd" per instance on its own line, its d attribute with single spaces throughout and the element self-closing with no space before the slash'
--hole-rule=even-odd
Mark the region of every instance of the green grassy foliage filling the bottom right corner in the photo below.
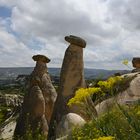
<svg viewBox="0 0 140 140">
<path fill-rule="evenodd" d="M 109 136 L 112 136 L 112 139 L 115 137 L 115 140 L 139 140 L 139 118 L 140 105 L 117 106 L 98 119 L 86 123 L 82 128 L 75 128 L 72 140 L 98 140 L 99 137 Z"/>
</svg>

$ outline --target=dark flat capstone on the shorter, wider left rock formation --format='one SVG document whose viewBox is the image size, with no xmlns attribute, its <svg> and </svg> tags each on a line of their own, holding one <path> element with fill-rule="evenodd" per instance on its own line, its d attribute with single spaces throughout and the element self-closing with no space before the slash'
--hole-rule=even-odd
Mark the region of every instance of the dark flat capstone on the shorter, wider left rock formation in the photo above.
<svg viewBox="0 0 140 140">
<path fill-rule="evenodd" d="M 44 63 L 49 63 L 50 62 L 50 59 L 44 55 L 34 55 L 33 57 L 33 60 L 34 61 L 41 61 L 41 62 L 44 62 Z"/>
</svg>

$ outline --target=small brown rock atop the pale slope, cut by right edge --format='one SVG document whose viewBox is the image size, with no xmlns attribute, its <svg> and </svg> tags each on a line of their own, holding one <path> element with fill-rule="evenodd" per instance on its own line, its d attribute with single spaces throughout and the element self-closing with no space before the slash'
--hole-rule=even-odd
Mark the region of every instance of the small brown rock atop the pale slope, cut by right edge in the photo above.
<svg viewBox="0 0 140 140">
<path fill-rule="evenodd" d="M 132 60 L 133 67 L 135 68 L 132 72 L 140 72 L 140 57 L 134 57 Z"/>
</svg>

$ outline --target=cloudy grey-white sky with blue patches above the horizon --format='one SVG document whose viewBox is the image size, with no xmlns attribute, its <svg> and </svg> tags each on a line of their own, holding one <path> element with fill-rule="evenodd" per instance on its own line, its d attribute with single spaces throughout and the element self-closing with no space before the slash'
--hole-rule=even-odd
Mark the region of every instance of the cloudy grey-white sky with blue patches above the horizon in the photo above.
<svg viewBox="0 0 140 140">
<path fill-rule="evenodd" d="M 0 67 L 34 66 L 44 54 L 61 67 L 68 43 L 87 41 L 87 68 L 127 69 L 123 59 L 140 56 L 139 0 L 0 0 Z"/>
</svg>

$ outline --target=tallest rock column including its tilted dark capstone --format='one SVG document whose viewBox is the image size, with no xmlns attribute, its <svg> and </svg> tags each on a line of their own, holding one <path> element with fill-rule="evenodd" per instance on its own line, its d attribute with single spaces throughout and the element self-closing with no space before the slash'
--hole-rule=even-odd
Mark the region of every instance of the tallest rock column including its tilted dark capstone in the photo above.
<svg viewBox="0 0 140 140">
<path fill-rule="evenodd" d="M 67 106 L 69 99 L 74 96 L 78 88 L 85 87 L 83 48 L 85 48 L 86 42 L 80 37 L 72 35 L 66 36 L 65 40 L 70 45 L 63 60 L 60 88 L 50 122 L 48 140 L 56 139 L 56 128 L 62 117 L 69 112 L 74 112 Z"/>
</svg>

